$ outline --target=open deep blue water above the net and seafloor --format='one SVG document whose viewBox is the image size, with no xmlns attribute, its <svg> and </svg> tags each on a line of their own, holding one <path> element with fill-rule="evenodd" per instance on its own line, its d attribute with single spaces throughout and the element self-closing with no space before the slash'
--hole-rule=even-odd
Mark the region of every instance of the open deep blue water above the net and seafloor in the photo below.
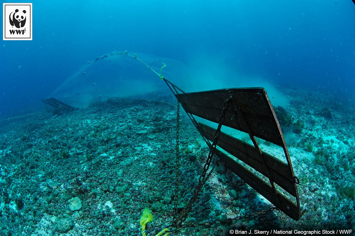
<svg viewBox="0 0 355 236">
<path fill-rule="evenodd" d="M 351 0 L 32 2 L 33 41 L 0 45 L 0 119 L 43 106 L 87 61 L 114 50 L 354 100 Z"/>
</svg>

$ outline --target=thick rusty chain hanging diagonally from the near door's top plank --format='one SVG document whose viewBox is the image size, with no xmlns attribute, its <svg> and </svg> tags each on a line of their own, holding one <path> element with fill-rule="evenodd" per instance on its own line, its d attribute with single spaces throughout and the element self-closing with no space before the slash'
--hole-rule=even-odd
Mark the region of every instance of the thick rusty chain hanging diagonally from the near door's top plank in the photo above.
<svg viewBox="0 0 355 236">
<path fill-rule="evenodd" d="M 175 227 L 180 227 L 182 225 L 182 223 L 186 220 L 187 214 L 189 214 L 189 212 L 192 209 L 192 204 L 196 202 L 196 198 L 197 198 L 198 193 L 200 193 L 204 183 L 206 183 L 207 179 L 209 178 L 209 176 L 212 173 L 213 168 L 208 173 L 208 175 L 206 176 L 206 173 L 207 173 L 207 171 L 209 169 L 209 166 L 211 165 L 212 156 L 214 155 L 214 152 L 215 152 L 216 147 L 217 147 L 217 140 L 218 140 L 218 138 L 219 138 L 219 136 L 221 134 L 222 124 L 224 123 L 225 113 L 226 113 L 226 110 L 228 108 L 228 105 L 229 105 L 230 101 L 231 101 L 231 98 L 228 98 L 223 103 L 223 109 L 222 109 L 222 113 L 220 114 L 220 117 L 219 117 L 218 127 L 217 127 L 217 130 L 215 132 L 212 145 L 211 145 L 211 147 L 209 149 L 209 153 L 208 153 L 208 157 L 207 157 L 206 163 L 204 164 L 202 173 L 200 175 L 200 178 L 198 179 L 198 184 L 195 187 L 195 190 L 193 191 L 193 196 L 191 197 L 189 203 L 181 211 L 180 215 L 174 220 L 174 226 Z"/>
</svg>

